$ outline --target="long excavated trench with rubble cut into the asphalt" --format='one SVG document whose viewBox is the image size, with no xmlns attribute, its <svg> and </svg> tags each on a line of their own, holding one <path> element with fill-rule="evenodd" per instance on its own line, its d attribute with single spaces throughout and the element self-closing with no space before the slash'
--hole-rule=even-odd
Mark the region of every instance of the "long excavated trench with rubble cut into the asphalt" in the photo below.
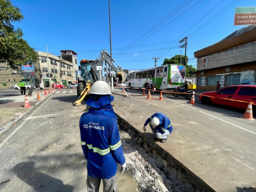
<svg viewBox="0 0 256 192">
<path fill-rule="evenodd" d="M 144 133 L 117 117 L 126 169 L 138 182 L 138 191 L 214 191 L 155 142 L 147 138 L 144 142 Z"/>
</svg>

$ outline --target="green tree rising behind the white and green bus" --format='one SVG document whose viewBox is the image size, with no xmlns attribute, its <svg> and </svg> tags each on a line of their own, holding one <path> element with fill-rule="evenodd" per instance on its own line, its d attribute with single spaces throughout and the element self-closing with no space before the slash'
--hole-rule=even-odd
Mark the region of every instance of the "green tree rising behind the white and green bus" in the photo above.
<svg viewBox="0 0 256 192">
<path fill-rule="evenodd" d="M 175 55 L 171 59 L 164 59 L 164 62 L 162 65 L 166 64 L 175 64 L 180 65 L 180 55 Z M 186 56 L 186 63 L 185 63 L 185 55 L 181 55 L 181 65 L 186 66 L 186 76 L 191 75 L 191 72 L 196 71 L 196 68 L 194 68 L 192 65 L 188 65 L 188 57 Z"/>
</svg>

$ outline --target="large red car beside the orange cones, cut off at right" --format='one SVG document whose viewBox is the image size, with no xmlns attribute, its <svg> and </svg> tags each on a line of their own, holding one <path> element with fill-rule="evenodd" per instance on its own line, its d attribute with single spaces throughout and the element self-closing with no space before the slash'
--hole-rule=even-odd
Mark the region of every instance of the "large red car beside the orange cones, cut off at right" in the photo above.
<svg viewBox="0 0 256 192">
<path fill-rule="evenodd" d="M 248 102 L 256 104 L 256 85 L 233 85 L 219 91 L 204 92 L 199 100 L 206 105 L 216 103 L 246 110 Z M 252 105 L 252 109 L 256 114 L 256 105 Z"/>
</svg>

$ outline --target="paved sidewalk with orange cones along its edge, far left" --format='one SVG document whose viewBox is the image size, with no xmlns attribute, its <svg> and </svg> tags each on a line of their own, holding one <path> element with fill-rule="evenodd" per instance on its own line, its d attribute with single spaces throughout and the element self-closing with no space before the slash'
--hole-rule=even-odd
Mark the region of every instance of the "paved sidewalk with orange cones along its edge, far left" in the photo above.
<svg viewBox="0 0 256 192">
<path fill-rule="evenodd" d="M 41 100 L 37 100 L 37 93 L 39 92 Z M 28 94 L 28 91 L 26 92 Z M 50 93 L 51 94 L 51 93 Z M 47 95 L 48 94 L 47 91 Z M 40 90 L 34 90 L 32 96 L 27 96 L 31 107 L 24 108 L 25 96 L 14 95 L 7 96 L 0 99 L 0 134 L 9 129 L 15 122 L 31 111 L 37 106 L 47 95 L 44 95 Z"/>
</svg>

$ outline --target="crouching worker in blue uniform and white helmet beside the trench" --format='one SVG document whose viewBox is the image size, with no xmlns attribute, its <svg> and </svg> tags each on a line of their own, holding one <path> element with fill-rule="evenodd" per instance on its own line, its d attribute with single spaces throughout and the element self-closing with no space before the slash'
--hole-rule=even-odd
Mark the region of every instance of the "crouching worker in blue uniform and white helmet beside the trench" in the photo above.
<svg viewBox="0 0 256 192">
<path fill-rule="evenodd" d="M 165 143 L 172 132 L 172 124 L 168 117 L 162 113 L 155 113 L 147 119 L 143 126 L 143 131 L 146 131 L 146 126 L 149 124 L 152 132 L 155 134 L 153 141 L 160 140 Z"/>
</svg>

